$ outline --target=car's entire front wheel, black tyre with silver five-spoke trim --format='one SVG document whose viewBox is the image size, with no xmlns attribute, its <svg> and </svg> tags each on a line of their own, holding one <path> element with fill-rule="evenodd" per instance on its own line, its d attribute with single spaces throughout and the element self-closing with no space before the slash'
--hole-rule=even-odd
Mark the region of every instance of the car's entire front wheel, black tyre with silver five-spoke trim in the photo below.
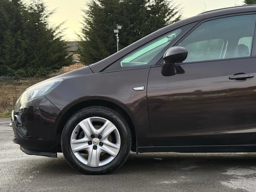
<svg viewBox="0 0 256 192">
<path fill-rule="evenodd" d="M 85 174 L 106 174 L 118 169 L 131 150 L 126 121 L 107 107 L 87 107 L 67 121 L 61 148 L 72 168 Z"/>
</svg>

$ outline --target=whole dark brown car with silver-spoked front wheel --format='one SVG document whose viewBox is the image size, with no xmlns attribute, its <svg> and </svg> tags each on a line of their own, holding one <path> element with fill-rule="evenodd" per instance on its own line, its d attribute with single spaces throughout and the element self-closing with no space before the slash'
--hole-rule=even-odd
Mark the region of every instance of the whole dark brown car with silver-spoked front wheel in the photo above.
<svg viewBox="0 0 256 192">
<path fill-rule="evenodd" d="M 34 85 L 13 139 L 86 174 L 134 152 L 256 152 L 256 6 L 205 12 Z"/>
</svg>

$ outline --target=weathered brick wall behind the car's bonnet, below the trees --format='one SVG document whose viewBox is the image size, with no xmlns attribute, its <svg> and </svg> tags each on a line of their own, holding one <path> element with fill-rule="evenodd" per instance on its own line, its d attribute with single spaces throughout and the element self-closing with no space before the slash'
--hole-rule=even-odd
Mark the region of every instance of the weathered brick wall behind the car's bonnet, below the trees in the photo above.
<svg viewBox="0 0 256 192">
<path fill-rule="evenodd" d="M 84 67 L 83 63 L 76 63 L 71 66 L 62 67 L 61 73 L 70 72 L 81 67 Z M 45 79 L 47 78 L 26 78 L 15 82 L 10 81 L 5 84 L 0 84 L 0 113 L 12 110 L 15 102 L 26 88 Z"/>
</svg>

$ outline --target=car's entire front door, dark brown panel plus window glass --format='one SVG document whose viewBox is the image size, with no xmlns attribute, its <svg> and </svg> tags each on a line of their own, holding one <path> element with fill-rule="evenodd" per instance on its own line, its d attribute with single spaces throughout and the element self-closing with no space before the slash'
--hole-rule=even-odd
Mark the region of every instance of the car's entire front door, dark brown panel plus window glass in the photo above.
<svg viewBox="0 0 256 192">
<path fill-rule="evenodd" d="M 189 53 L 179 74 L 150 69 L 154 146 L 256 144 L 254 26 L 253 14 L 205 21 L 178 44 Z"/>
</svg>

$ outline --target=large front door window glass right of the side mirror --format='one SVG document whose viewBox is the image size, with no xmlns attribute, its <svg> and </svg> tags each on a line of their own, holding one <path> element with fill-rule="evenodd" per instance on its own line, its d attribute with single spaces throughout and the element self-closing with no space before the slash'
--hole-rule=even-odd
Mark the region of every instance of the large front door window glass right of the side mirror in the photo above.
<svg viewBox="0 0 256 192">
<path fill-rule="evenodd" d="M 250 56 L 255 21 L 239 15 L 204 22 L 179 44 L 188 50 L 184 62 Z"/>
</svg>

